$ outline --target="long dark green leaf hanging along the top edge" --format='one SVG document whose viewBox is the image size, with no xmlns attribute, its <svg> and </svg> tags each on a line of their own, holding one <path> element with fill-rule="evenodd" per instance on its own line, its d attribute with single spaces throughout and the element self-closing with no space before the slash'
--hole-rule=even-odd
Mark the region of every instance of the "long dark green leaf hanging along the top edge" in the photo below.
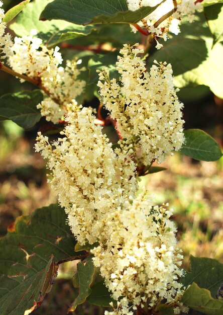
<svg viewBox="0 0 223 315">
<path fill-rule="evenodd" d="M 164 0 L 165 1 L 165 0 Z M 59 19 L 80 25 L 103 23 L 137 23 L 152 13 L 155 7 L 129 11 L 125 0 L 54 0 L 42 12 L 40 19 Z"/>
</svg>

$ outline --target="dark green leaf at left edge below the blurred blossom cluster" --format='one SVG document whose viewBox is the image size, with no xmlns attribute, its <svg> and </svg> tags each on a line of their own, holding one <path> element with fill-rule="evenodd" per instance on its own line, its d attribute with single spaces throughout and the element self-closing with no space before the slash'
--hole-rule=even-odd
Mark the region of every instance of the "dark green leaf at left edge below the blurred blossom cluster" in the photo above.
<svg viewBox="0 0 223 315">
<path fill-rule="evenodd" d="M 22 91 L 0 97 L 0 121 L 10 119 L 20 127 L 29 129 L 41 118 L 36 106 L 43 100 L 40 90 Z"/>
</svg>

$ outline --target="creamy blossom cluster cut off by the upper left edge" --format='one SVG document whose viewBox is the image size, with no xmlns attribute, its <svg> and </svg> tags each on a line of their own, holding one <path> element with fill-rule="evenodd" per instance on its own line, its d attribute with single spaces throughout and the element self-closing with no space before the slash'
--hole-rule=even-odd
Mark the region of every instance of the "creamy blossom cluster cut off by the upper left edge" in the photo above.
<svg viewBox="0 0 223 315">
<path fill-rule="evenodd" d="M 0 1 L 0 62 L 8 56 L 11 56 L 13 42 L 9 33 L 5 34 L 6 23 L 3 22 L 5 18 L 5 12 L 1 9 L 3 2 Z"/>
</svg>

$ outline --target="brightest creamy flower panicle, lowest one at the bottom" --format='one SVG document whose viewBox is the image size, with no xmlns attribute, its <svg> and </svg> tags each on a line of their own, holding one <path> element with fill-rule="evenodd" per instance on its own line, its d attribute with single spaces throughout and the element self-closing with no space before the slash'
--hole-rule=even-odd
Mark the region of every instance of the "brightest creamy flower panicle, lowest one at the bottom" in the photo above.
<svg viewBox="0 0 223 315">
<path fill-rule="evenodd" d="M 144 194 L 108 215 L 107 242 L 91 252 L 106 286 L 119 300 L 115 314 L 132 314 L 130 305 L 155 309 L 164 299 L 175 305 L 183 270 L 171 214 L 166 206 L 152 206 Z"/>
</svg>

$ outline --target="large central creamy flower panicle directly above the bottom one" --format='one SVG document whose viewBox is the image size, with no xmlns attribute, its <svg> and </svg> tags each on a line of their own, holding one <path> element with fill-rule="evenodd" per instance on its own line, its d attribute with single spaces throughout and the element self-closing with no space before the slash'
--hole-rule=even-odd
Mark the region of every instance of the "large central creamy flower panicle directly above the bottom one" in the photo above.
<svg viewBox="0 0 223 315">
<path fill-rule="evenodd" d="M 114 152 L 91 110 L 69 113 L 66 119 L 64 137 L 50 144 L 39 133 L 36 150 L 48 159 L 49 182 L 77 241 L 93 244 L 104 237 L 107 213 L 134 196 L 135 165 L 127 152 Z"/>
</svg>

